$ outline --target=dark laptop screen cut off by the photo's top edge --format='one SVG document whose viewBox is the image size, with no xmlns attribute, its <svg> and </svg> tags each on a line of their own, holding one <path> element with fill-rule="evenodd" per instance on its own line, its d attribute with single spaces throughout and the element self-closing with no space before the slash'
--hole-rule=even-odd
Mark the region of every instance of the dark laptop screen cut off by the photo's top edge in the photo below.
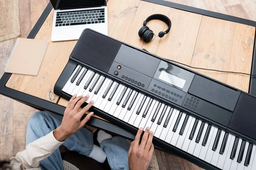
<svg viewBox="0 0 256 170">
<path fill-rule="evenodd" d="M 105 6 L 106 0 L 50 0 L 54 9 L 88 8 Z"/>
</svg>

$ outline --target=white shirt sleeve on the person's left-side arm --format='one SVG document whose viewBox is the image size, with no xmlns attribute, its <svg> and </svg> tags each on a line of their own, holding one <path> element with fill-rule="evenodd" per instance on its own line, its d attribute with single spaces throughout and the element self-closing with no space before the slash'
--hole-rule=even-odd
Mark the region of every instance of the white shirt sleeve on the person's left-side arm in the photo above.
<svg viewBox="0 0 256 170">
<path fill-rule="evenodd" d="M 38 167 L 40 162 L 50 156 L 63 142 L 55 139 L 52 130 L 46 136 L 28 144 L 22 152 L 18 152 L 10 159 L 10 164 L 20 164 L 21 169 Z"/>
</svg>

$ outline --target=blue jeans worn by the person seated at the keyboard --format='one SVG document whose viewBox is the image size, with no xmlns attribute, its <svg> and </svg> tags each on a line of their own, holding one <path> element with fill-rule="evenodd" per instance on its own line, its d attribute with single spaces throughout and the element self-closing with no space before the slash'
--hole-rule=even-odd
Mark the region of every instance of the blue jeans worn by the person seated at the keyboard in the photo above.
<svg viewBox="0 0 256 170">
<path fill-rule="evenodd" d="M 39 111 L 29 119 L 26 133 L 26 145 L 47 135 L 49 132 L 61 125 L 62 116 Z M 93 149 L 93 133 L 85 128 L 70 136 L 63 143 L 68 150 L 76 151 L 82 155 L 89 156 Z M 101 147 L 107 155 L 108 164 L 113 170 L 128 170 L 128 140 L 113 137 L 101 142 Z M 63 161 L 59 149 L 52 155 L 41 161 L 42 170 L 63 170 Z"/>
</svg>

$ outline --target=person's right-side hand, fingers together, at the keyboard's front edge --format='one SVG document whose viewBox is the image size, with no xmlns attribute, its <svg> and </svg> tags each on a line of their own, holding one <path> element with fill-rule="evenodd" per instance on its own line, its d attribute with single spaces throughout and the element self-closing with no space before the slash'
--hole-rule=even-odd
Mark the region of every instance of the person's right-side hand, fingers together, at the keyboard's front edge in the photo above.
<svg viewBox="0 0 256 170">
<path fill-rule="evenodd" d="M 128 165 L 130 170 L 146 170 L 148 168 L 154 152 L 154 145 L 152 144 L 153 132 L 149 130 L 150 128 L 147 127 L 142 141 L 139 144 L 140 136 L 143 132 L 143 128 L 140 127 L 135 140 L 131 142 L 128 152 Z"/>
</svg>

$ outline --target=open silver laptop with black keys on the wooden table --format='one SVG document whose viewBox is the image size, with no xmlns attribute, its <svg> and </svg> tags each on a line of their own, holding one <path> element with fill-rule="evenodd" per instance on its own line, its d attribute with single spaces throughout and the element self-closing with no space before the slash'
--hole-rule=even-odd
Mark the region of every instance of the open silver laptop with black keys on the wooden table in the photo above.
<svg viewBox="0 0 256 170">
<path fill-rule="evenodd" d="M 54 10 L 52 41 L 78 40 L 85 28 L 108 35 L 106 0 L 50 0 Z"/>
</svg>

